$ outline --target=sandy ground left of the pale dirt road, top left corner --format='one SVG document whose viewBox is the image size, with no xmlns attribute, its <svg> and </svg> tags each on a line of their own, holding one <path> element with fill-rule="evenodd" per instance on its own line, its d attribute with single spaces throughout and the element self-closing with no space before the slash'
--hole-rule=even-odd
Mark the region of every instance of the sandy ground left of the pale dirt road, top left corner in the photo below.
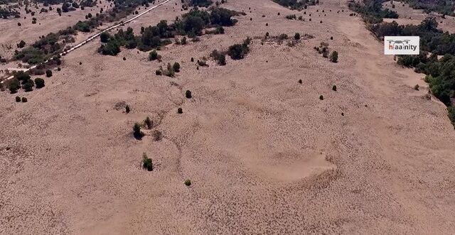
<svg viewBox="0 0 455 235">
<path fill-rule="evenodd" d="M 36 11 L 35 16 L 31 13 L 26 13 L 25 6 L 20 9 L 21 18 L 0 19 L 0 32 L 7 32 L 0 34 L 0 55 L 4 58 L 9 58 L 13 55 L 14 50 L 17 49 L 16 44 L 24 40 L 27 45 L 35 42 L 42 35 L 48 33 L 56 33 L 60 29 L 74 26 L 77 21 L 85 21 L 85 16 L 92 13 L 95 16 L 100 12 L 100 9 L 107 11 L 111 9 L 111 3 L 102 0 L 98 1 L 97 6 L 85 7 L 84 10 L 76 9 L 76 11 L 63 12 L 62 16 L 58 16 L 57 8 L 61 9 L 61 4 L 50 5 L 53 10 L 47 13 L 39 13 L 41 8 L 48 9 L 49 7 L 38 4 L 38 9 L 29 7 L 32 11 Z M 24 19 L 24 17 L 26 17 Z M 33 24 L 32 18 L 36 18 L 36 23 Z M 21 26 L 18 26 L 21 23 Z"/>
</svg>

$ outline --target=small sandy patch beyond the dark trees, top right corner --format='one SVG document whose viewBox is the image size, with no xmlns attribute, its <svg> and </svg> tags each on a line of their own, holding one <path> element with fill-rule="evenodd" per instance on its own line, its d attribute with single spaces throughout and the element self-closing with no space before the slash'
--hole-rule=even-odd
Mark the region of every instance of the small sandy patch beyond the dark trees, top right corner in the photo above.
<svg viewBox="0 0 455 235">
<path fill-rule="evenodd" d="M 382 4 L 384 8 L 396 11 L 398 13 L 398 18 L 385 18 L 385 22 L 397 21 L 397 23 L 406 25 L 414 24 L 418 25 L 427 17 L 434 17 L 438 21 L 438 28 L 443 31 L 448 31 L 449 33 L 455 33 L 455 18 L 453 16 L 444 16 L 442 18 L 441 14 L 432 12 L 424 13 L 422 10 L 412 9 L 408 4 L 403 4 L 401 2 L 395 1 L 395 8 L 392 8 L 392 3 L 386 1 Z"/>
</svg>

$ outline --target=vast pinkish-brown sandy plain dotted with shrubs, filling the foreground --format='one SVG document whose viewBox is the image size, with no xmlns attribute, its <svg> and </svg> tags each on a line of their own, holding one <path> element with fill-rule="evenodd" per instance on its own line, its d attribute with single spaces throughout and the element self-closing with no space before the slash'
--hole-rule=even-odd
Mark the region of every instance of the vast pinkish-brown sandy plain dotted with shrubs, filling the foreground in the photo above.
<svg viewBox="0 0 455 235">
<path fill-rule="evenodd" d="M 179 2 L 132 26 L 175 18 Z M 306 15 L 264 0 L 224 6 L 247 16 L 225 35 L 168 45 L 163 62 L 99 55 L 93 41 L 43 89 L 0 92 L 0 234 L 455 233 L 455 131 L 444 105 L 423 98 L 423 75 L 382 55 L 340 1 Z M 261 45 L 266 32 L 314 38 Z M 244 60 L 190 61 L 247 36 Z M 321 42 L 338 63 L 316 53 Z M 155 75 L 176 61 L 176 77 Z M 139 141 L 132 126 L 146 116 L 154 126 Z"/>
</svg>

